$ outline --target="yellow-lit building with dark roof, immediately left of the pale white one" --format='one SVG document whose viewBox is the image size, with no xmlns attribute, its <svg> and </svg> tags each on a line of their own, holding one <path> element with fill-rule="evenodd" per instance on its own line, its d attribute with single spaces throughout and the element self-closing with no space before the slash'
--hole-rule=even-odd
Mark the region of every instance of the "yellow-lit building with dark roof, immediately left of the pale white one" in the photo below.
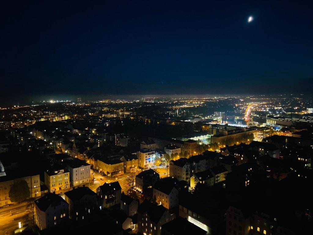
<svg viewBox="0 0 313 235">
<path fill-rule="evenodd" d="M 69 188 L 69 170 L 61 165 L 54 165 L 44 172 L 44 183 L 48 188 L 48 192 L 56 192 Z"/>
</svg>

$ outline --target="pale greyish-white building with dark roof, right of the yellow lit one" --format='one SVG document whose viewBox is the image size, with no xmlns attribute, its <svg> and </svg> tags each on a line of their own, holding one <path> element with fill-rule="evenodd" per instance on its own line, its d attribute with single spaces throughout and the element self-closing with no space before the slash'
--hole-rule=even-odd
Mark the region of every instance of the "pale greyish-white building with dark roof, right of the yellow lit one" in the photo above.
<svg viewBox="0 0 313 235">
<path fill-rule="evenodd" d="M 90 164 L 84 160 L 73 159 L 66 162 L 72 186 L 90 183 Z"/>
</svg>

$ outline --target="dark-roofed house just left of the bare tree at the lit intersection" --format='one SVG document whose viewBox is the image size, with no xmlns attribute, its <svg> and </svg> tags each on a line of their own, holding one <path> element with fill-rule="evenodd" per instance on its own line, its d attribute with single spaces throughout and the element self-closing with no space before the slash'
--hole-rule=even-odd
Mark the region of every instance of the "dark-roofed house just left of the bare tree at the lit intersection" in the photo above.
<svg viewBox="0 0 313 235">
<path fill-rule="evenodd" d="M 121 185 L 118 181 L 112 183 L 104 183 L 97 188 L 97 196 L 101 208 L 109 208 L 121 203 Z"/>
</svg>

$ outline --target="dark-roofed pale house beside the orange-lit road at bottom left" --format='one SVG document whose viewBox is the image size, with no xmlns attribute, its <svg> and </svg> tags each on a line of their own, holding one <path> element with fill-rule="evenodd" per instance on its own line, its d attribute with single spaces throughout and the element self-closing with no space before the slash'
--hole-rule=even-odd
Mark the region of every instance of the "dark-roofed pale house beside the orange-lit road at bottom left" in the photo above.
<svg viewBox="0 0 313 235">
<path fill-rule="evenodd" d="M 48 193 L 35 202 L 35 223 L 40 230 L 66 223 L 69 204 L 59 195 Z"/>
</svg>

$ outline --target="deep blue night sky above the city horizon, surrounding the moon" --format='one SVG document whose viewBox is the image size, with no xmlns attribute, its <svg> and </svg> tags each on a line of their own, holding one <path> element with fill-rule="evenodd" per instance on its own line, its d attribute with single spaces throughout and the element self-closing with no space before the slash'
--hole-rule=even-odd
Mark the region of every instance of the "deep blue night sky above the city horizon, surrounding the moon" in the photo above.
<svg viewBox="0 0 313 235">
<path fill-rule="evenodd" d="M 2 94 L 311 92 L 312 1 L 89 2 L 1 3 Z"/>
</svg>

